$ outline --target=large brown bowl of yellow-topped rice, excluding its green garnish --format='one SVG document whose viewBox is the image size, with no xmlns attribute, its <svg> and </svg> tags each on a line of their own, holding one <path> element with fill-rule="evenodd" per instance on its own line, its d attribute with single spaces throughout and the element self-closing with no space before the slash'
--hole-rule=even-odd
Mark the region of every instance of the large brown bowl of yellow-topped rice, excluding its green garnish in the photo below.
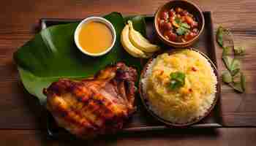
<svg viewBox="0 0 256 146">
<path fill-rule="evenodd" d="M 172 88 L 171 74 L 183 84 Z M 205 118 L 218 99 L 218 74 L 212 61 L 193 48 L 159 54 L 140 75 L 140 97 L 146 110 L 167 126 L 190 126 Z"/>
</svg>

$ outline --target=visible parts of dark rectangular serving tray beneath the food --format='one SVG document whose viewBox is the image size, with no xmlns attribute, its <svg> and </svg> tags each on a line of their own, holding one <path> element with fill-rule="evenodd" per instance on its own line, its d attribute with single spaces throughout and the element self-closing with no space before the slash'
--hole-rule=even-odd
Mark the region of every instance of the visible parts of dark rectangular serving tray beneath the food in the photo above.
<svg viewBox="0 0 256 146">
<path fill-rule="evenodd" d="M 203 34 L 200 35 L 199 40 L 192 45 L 192 47 L 197 48 L 200 52 L 205 53 L 208 58 L 217 66 L 217 58 L 216 58 L 216 47 L 214 45 L 214 30 L 213 23 L 211 19 L 211 12 L 203 12 L 204 18 L 206 20 L 206 25 L 203 31 Z M 146 32 L 148 39 L 155 42 L 157 41 L 157 35 L 154 31 L 154 16 L 153 15 L 145 15 L 146 18 Z M 48 28 L 49 26 L 66 24 L 66 23 L 74 23 L 79 22 L 82 19 L 53 19 L 53 18 L 42 18 L 40 20 L 41 29 Z M 217 101 L 214 110 L 211 113 L 201 120 L 199 123 L 196 123 L 189 128 L 219 128 L 222 127 L 222 112 L 220 109 L 220 84 L 218 87 L 217 93 L 219 96 L 219 100 Z M 139 95 L 138 95 L 139 96 Z M 146 112 L 146 109 L 143 107 L 143 104 L 140 101 L 139 97 L 136 97 L 136 105 L 138 110 L 134 115 L 127 121 L 124 126 L 124 129 L 121 132 L 135 132 L 135 131 L 154 131 L 154 130 L 168 130 L 167 126 L 163 123 L 160 123 L 158 120 L 155 120 L 151 115 Z M 55 120 L 53 119 L 50 112 L 48 112 L 48 136 L 49 137 L 70 137 L 70 134 L 64 130 L 64 128 L 60 128 L 57 126 Z"/>
</svg>

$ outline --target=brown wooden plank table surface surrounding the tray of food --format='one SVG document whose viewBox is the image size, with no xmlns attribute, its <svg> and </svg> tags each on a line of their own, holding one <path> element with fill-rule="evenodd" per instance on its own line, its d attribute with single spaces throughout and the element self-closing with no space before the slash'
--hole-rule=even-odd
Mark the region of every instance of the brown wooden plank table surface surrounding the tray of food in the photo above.
<svg viewBox="0 0 256 146">
<path fill-rule="evenodd" d="M 39 18 L 85 18 L 112 11 L 124 15 L 154 13 L 160 0 L 86 1 L 24 0 L 1 1 L 0 9 L 0 145 L 253 145 L 256 142 L 256 1 L 197 0 L 213 13 L 214 28 L 222 25 L 235 35 L 235 44 L 246 47 L 241 59 L 247 77 L 247 91 L 234 93 L 222 85 L 222 120 L 216 130 L 170 130 L 124 134 L 97 142 L 50 140 L 46 137 L 45 115 L 37 100 L 21 85 L 12 53 L 34 37 Z M 36 48 L 35 48 L 36 49 Z M 219 72 L 224 69 L 222 50 L 217 47 Z M 86 144 L 84 144 L 86 143 Z"/>
</svg>

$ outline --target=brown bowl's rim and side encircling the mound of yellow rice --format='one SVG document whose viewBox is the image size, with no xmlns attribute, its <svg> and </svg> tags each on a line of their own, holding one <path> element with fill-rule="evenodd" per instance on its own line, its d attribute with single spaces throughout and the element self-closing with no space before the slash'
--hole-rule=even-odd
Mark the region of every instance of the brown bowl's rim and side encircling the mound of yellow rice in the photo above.
<svg viewBox="0 0 256 146">
<path fill-rule="evenodd" d="M 181 50 L 182 48 L 180 48 Z M 148 113 L 150 115 L 152 115 L 154 118 L 156 118 L 157 120 L 159 120 L 160 122 L 164 123 L 166 126 L 169 126 L 169 127 L 187 127 L 187 126 L 191 126 L 192 124 L 195 124 L 197 122 L 199 122 L 200 120 L 203 120 L 203 118 L 206 118 L 207 115 L 210 114 L 211 110 L 214 109 L 215 105 L 217 104 L 217 101 L 219 99 L 219 94 L 220 94 L 220 84 L 219 84 L 219 74 L 217 72 L 217 67 L 214 65 L 214 63 L 211 61 L 210 58 L 208 58 L 207 55 L 205 55 L 204 53 L 201 53 L 200 51 L 196 50 L 195 48 L 189 48 L 190 50 L 194 50 L 198 53 L 200 53 L 201 55 L 203 55 L 207 60 L 208 62 L 211 64 L 211 67 L 212 69 L 214 70 L 214 74 L 216 75 L 217 77 L 217 85 L 216 85 L 216 88 L 217 88 L 217 93 L 215 93 L 215 98 L 214 98 L 214 101 L 213 103 L 211 104 L 211 107 L 208 108 L 207 112 L 204 113 L 203 116 L 200 116 L 198 118 L 195 118 L 194 120 L 190 121 L 189 123 L 172 123 L 168 120 L 165 120 L 161 117 L 159 117 L 159 115 L 157 115 L 156 113 L 154 113 L 154 111 L 152 111 L 150 108 L 149 108 L 149 104 L 148 103 L 148 99 L 147 99 L 147 95 L 146 93 L 143 92 L 143 82 L 141 81 L 144 77 L 145 77 L 145 74 L 146 74 L 146 71 L 148 69 L 148 65 L 151 64 L 151 61 L 153 61 L 154 58 L 157 57 L 157 55 L 155 55 L 154 57 L 150 58 L 148 60 L 148 62 L 146 63 L 146 65 L 144 66 L 143 68 L 143 71 L 141 72 L 140 74 L 140 82 L 139 82 L 139 93 L 140 93 L 140 99 L 143 103 L 143 106 L 146 108 L 146 110 L 148 111 Z M 179 49 L 178 49 L 179 50 Z M 175 53 L 177 50 L 169 50 L 167 51 L 167 53 L 169 54 L 172 54 L 172 53 Z"/>
</svg>

